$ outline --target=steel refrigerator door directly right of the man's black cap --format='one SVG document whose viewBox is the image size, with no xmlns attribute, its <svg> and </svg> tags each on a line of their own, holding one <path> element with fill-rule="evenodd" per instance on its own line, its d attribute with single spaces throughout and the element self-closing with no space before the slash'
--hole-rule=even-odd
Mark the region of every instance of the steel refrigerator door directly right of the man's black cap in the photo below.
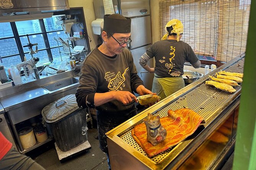
<svg viewBox="0 0 256 170">
<path fill-rule="evenodd" d="M 130 48 L 136 48 L 151 43 L 150 16 L 132 18 L 131 39 Z"/>
</svg>

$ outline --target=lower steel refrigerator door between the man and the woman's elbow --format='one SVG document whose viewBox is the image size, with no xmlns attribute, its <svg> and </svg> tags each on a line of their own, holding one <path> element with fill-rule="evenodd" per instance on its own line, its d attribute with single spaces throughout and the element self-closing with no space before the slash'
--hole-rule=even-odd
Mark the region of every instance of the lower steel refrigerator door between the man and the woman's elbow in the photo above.
<svg viewBox="0 0 256 170">
<path fill-rule="evenodd" d="M 146 70 L 143 69 L 143 67 L 140 66 L 140 64 L 139 64 L 140 56 L 142 56 L 149 47 L 150 47 L 150 45 L 147 45 L 147 46 L 144 46 L 144 47 L 136 48 L 134 50 L 130 50 L 130 52 L 132 53 L 134 64 L 136 66 L 138 75 L 140 76 L 140 78 L 142 79 L 142 81 L 144 83 L 144 86 L 147 89 L 152 90 L 152 83 L 153 83 L 154 74 L 150 74 L 148 72 L 145 73 Z M 153 67 L 153 59 L 150 59 L 148 61 L 148 66 Z"/>
</svg>

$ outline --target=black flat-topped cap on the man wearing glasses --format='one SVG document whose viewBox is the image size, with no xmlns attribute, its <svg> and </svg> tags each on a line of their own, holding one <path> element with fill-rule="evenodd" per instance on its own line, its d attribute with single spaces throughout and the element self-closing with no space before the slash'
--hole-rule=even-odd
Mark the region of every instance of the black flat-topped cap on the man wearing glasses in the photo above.
<svg viewBox="0 0 256 170">
<path fill-rule="evenodd" d="M 104 15 L 103 30 L 113 33 L 130 33 L 131 19 L 120 14 Z"/>
</svg>

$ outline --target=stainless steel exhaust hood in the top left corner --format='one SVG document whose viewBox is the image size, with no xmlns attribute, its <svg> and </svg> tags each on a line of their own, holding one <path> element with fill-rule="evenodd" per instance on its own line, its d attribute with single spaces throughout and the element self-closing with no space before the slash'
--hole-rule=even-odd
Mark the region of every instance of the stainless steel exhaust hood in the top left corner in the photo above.
<svg viewBox="0 0 256 170">
<path fill-rule="evenodd" d="M 69 10 L 68 0 L 0 0 L 0 16 Z"/>
</svg>

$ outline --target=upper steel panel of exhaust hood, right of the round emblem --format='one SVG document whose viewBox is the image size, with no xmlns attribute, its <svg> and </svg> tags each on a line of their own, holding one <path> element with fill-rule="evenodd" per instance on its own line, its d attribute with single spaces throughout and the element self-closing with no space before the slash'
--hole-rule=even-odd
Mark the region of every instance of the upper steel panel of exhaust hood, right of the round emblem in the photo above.
<svg viewBox="0 0 256 170">
<path fill-rule="evenodd" d="M 65 0 L 16 0 L 17 8 L 66 6 Z"/>
</svg>

